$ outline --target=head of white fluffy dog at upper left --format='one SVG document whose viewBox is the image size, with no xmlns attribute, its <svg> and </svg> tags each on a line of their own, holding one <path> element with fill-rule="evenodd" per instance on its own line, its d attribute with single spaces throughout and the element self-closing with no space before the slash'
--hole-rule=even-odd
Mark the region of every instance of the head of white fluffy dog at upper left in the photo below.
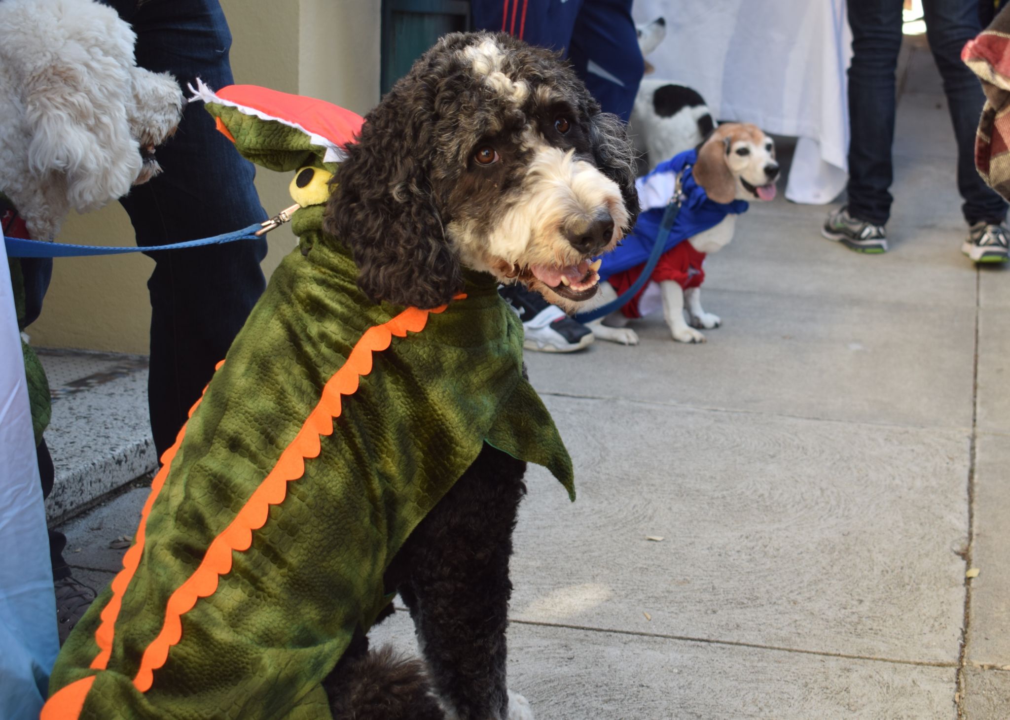
<svg viewBox="0 0 1010 720">
<path fill-rule="evenodd" d="M 93 0 L 0 2 L 0 191 L 36 239 L 153 178 L 175 131 L 171 75 L 137 68 L 136 39 Z"/>
</svg>

